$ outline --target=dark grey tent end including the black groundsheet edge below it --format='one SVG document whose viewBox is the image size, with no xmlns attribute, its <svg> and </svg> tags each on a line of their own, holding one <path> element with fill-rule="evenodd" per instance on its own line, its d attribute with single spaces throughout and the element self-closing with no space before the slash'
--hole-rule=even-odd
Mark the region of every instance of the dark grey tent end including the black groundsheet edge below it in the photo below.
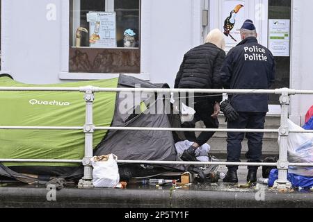
<svg viewBox="0 0 313 222">
<path fill-rule="evenodd" d="M 130 76 L 120 76 L 119 87 L 134 88 L 140 85 L 141 88 L 168 88 L 168 85 L 155 85 L 147 81 Z M 145 96 L 138 93 L 128 93 L 133 96 L 133 101 L 141 101 L 147 105 L 147 109 L 140 111 L 140 105 L 136 104 L 129 108 L 130 112 L 121 113 L 125 96 L 118 93 L 115 114 L 112 126 L 118 127 L 148 127 L 148 128 L 180 128 L 178 114 L 158 112 L 158 108 L 166 109 L 170 96 L 167 94 L 150 94 L 152 100 L 145 100 Z M 148 96 L 149 97 L 149 96 Z M 157 101 L 155 101 L 157 98 Z M 136 112 L 137 111 L 137 112 Z M 162 111 L 162 110 L 161 110 Z M 159 113 L 159 114 L 158 114 Z M 114 153 L 120 160 L 157 160 L 157 161 L 179 161 L 175 149 L 175 142 L 184 140 L 184 133 L 170 131 L 145 131 L 145 130 L 111 130 L 96 147 L 95 155 L 106 155 Z M 140 170 L 141 169 L 141 170 Z M 182 165 L 154 166 L 154 169 L 142 170 L 136 164 L 120 165 L 121 177 L 125 176 L 149 176 L 160 171 L 184 171 Z"/>
</svg>

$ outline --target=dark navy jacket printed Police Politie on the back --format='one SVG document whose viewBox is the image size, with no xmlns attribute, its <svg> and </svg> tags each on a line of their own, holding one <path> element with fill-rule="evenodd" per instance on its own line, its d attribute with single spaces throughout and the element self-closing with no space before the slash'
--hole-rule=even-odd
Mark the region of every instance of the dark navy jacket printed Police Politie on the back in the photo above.
<svg viewBox="0 0 313 222">
<path fill-rule="evenodd" d="M 275 82 L 273 54 L 248 37 L 227 54 L 220 78 L 226 89 L 269 89 Z M 235 94 L 229 99 L 237 112 L 268 112 L 267 94 Z"/>
</svg>

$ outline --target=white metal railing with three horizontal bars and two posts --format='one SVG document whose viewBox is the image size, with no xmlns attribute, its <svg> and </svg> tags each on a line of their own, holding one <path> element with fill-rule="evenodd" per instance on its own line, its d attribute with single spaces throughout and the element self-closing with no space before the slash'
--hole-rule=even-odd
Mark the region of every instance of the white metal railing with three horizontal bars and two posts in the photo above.
<svg viewBox="0 0 313 222">
<path fill-rule="evenodd" d="M 54 163 L 81 163 L 84 166 L 84 176 L 79 181 L 79 188 L 93 187 L 93 167 L 90 158 L 93 157 L 93 133 L 95 130 L 157 130 L 179 132 L 235 132 L 235 133 L 278 133 L 280 136 L 279 160 L 277 163 L 250 163 L 232 162 L 234 166 L 269 166 L 278 168 L 278 188 L 289 187 L 287 180 L 288 169 L 294 167 L 313 167 L 310 163 L 289 163 L 287 142 L 289 133 L 313 133 L 313 130 L 289 130 L 288 116 L 290 96 L 296 94 L 313 94 L 313 90 L 295 89 L 124 89 L 100 87 L 0 87 L 0 92 L 8 91 L 44 91 L 44 92 L 82 92 L 86 102 L 86 121 L 84 126 L 52 127 L 52 126 L 0 126 L 0 130 L 83 130 L 85 133 L 85 155 L 83 160 L 30 160 L 30 159 L 0 159 L 0 162 L 54 162 Z M 198 129 L 198 128 L 142 128 L 142 127 L 102 127 L 93 123 L 93 102 L 97 92 L 149 92 L 149 93 L 207 93 L 207 94 L 280 94 L 282 108 L 280 128 L 278 129 Z M 144 161 L 144 160 L 118 160 L 118 163 L 127 164 L 193 164 L 193 165 L 230 165 L 230 162 L 174 162 L 174 161 Z"/>
</svg>

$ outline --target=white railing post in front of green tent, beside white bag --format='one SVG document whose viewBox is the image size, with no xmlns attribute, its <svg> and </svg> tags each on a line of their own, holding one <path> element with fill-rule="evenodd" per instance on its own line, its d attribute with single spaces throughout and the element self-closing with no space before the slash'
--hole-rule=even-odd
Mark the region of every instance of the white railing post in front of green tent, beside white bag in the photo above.
<svg viewBox="0 0 313 222">
<path fill-rule="evenodd" d="M 93 87 L 86 87 L 85 90 L 86 123 L 83 126 L 83 133 L 85 133 L 85 157 L 83 158 L 83 178 L 79 181 L 79 188 L 93 188 L 93 166 L 90 159 L 93 157 L 93 133 L 95 132 L 95 125 L 93 125 L 93 101 L 95 101 L 95 94 L 93 93 Z"/>
</svg>

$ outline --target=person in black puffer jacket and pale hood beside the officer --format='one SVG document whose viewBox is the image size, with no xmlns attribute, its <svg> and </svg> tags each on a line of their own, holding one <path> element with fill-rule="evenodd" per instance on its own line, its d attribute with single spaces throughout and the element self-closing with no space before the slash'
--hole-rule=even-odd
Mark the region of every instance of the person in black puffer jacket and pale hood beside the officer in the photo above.
<svg viewBox="0 0 313 222">
<path fill-rule="evenodd" d="M 175 80 L 175 88 L 180 89 L 220 89 L 220 67 L 225 58 L 225 40 L 223 33 L 215 29 L 209 33 L 206 43 L 188 51 Z M 195 118 L 192 122 L 185 123 L 184 128 L 194 128 L 195 122 L 204 121 L 207 128 L 218 128 L 218 114 L 222 95 L 195 94 Z M 202 132 L 198 138 L 195 133 L 185 133 L 186 138 L 194 142 L 182 154 L 184 161 L 197 161 L 195 151 L 211 139 L 214 133 Z"/>
</svg>

